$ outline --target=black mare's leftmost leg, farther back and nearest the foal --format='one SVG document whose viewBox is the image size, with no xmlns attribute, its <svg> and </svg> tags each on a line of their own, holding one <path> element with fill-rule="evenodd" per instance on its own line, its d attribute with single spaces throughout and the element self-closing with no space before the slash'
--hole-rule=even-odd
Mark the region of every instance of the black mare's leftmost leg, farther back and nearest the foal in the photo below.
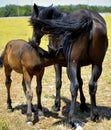
<svg viewBox="0 0 111 130">
<path fill-rule="evenodd" d="M 60 110 L 60 89 L 62 85 L 61 81 L 61 74 L 62 74 L 62 67 L 59 64 L 54 65 L 55 73 L 56 73 L 56 97 L 55 97 L 55 104 L 52 107 L 54 111 Z"/>
</svg>

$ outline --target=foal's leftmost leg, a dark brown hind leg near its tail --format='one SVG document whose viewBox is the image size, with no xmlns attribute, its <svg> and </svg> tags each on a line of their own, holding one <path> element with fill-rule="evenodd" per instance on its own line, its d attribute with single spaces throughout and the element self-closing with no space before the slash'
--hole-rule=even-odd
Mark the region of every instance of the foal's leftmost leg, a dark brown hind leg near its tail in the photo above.
<svg viewBox="0 0 111 130">
<path fill-rule="evenodd" d="M 6 80 L 5 80 L 5 86 L 7 88 L 7 110 L 10 112 L 12 111 L 12 101 L 11 101 L 11 96 L 10 96 L 10 87 L 11 87 L 11 71 L 12 69 L 8 66 L 5 66 L 5 76 L 6 76 Z"/>
</svg>

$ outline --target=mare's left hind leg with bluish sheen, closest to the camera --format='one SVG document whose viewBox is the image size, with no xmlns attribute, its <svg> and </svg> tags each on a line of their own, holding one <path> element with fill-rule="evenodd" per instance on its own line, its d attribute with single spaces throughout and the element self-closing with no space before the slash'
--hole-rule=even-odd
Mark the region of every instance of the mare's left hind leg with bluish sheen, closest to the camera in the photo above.
<svg viewBox="0 0 111 130">
<path fill-rule="evenodd" d="M 73 126 L 76 119 L 76 98 L 79 88 L 79 82 L 77 79 L 78 67 L 76 62 L 68 63 L 67 74 L 70 80 L 70 91 L 72 96 L 70 111 L 69 111 L 69 123 Z"/>
</svg>

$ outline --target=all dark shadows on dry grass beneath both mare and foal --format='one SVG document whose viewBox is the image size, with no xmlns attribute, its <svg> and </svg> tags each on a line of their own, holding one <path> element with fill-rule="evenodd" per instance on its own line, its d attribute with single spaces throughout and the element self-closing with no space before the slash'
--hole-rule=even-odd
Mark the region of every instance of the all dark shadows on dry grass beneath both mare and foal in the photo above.
<svg viewBox="0 0 111 130">
<path fill-rule="evenodd" d="M 68 125 L 68 113 L 70 110 L 70 103 L 71 101 L 69 99 L 67 99 L 66 97 L 62 97 L 61 100 L 66 104 L 63 108 L 61 108 L 61 113 L 62 113 L 62 117 L 58 115 L 58 113 L 55 113 L 53 111 L 49 111 L 47 108 L 43 107 L 43 113 L 44 113 L 44 117 L 52 117 L 55 119 L 59 119 L 59 121 L 53 123 L 53 125 Z M 87 106 L 90 108 L 90 104 L 87 104 Z M 80 103 L 77 102 L 76 104 L 77 107 L 77 119 L 81 122 L 81 123 L 86 123 L 88 122 L 88 120 L 90 120 L 90 112 L 82 112 L 80 110 Z M 105 106 L 97 106 L 98 111 L 100 112 L 100 116 L 101 119 L 106 118 L 107 120 L 111 119 L 111 108 L 110 107 L 105 107 Z M 18 105 L 14 108 L 14 111 L 16 110 L 21 110 L 22 114 L 26 114 L 27 111 L 27 105 Z M 33 112 L 34 112 L 34 124 L 37 123 L 39 121 L 38 119 L 38 113 L 37 113 L 37 105 L 33 105 Z"/>
</svg>

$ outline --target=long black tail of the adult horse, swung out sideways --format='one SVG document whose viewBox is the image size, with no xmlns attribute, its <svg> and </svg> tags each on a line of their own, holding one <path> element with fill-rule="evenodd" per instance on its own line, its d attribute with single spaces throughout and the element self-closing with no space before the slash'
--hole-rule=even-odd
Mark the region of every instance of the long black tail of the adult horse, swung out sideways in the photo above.
<svg viewBox="0 0 111 130">
<path fill-rule="evenodd" d="M 70 33 L 73 38 L 80 36 L 85 32 L 92 29 L 93 21 L 90 16 L 82 16 L 72 21 L 61 20 L 48 20 L 48 19 L 32 19 L 31 24 L 33 27 L 38 27 L 44 34 L 60 34 Z"/>
</svg>

